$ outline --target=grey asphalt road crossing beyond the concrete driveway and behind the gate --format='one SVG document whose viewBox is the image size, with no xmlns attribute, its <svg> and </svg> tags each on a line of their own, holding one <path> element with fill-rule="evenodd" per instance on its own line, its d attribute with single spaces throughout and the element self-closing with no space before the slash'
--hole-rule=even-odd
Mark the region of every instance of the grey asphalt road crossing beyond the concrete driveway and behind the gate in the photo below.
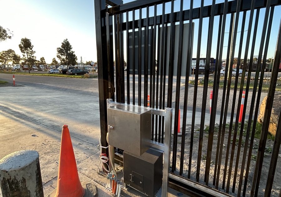
<svg viewBox="0 0 281 197">
<path fill-rule="evenodd" d="M 203 76 L 203 75 L 202 75 Z M 201 76 L 200 76 L 201 77 Z M 190 77 L 190 80 L 192 79 L 192 76 Z M 8 81 L 9 83 L 12 83 L 12 75 L 11 74 L 0 74 L 0 80 Z M 172 97 L 172 107 L 175 107 L 175 93 L 176 93 L 176 77 L 173 78 L 173 97 Z M 60 77 L 47 77 L 47 76 L 27 76 L 27 75 L 16 75 L 16 83 L 37 87 L 37 88 L 43 88 L 48 90 L 56 90 L 56 91 L 62 91 L 67 93 L 75 93 L 75 94 L 81 94 L 81 95 L 89 95 L 89 96 L 96 96 L 98 97 L 98 79 L 97 78 L 88 78 L 88 79 L 81 79 L 81 78 L 60 78 Z M 148 92 L 150 92 L 150 78 L 148 79 Z M 167 83 L 168 79 L 166 80 L 166 96 L 165 100 L 167 99 Z M 125 73 L 125 94 L 127 94 L 126 91 L 126 73 Z M 205 123 L 208 124 L 210 121 L 210 91 L 212 88 L 208 88 L 207 92 L 207 100 L 206 100 L 206 114 L 205 114 Z M 142 76 L 141 79 L 141 92 L 142 92 L 142 103 L 143 103 L 143 92 L 144 92 L 144 78 Z M 184 107 L 184 92 L 185 92 L 185 78 L 181 78 L 181 86 L 180 86 L 180 113 L 181 117 L 183 114 L 183 107 Z M 216 113 L 216 122 L 219 123 L 219 117 L 220 117 L 220 111 L 221 111 L 221 101 L 222 101 L 222 94 L 223 89 L 219 89 L 218 93 L 218 100 L 217 100 L 217 113 Z M 138 103 L 138 76 L 135 78 L 135 98 L 136 98 L 136 104 Z M 264 97 L 267 95 L 267 93 L 262 92 L 261 99 L 259 102 L 259 105 L 264 99 Z M 234 103 L 234 121 L 236 117 L 236 111 L 237 111 L 237 103 L 238 103 L 238 96 L 239 91 L 236 92 L 236 97 L 234 98 L 234 91 L 229 91 L 229 102 L 228 102 L 228 111 L 227 111 L 227 121 L 230 120 L 231 116 L 231 109 L 232 104 Z M 189 86 L 188 91 L 188 99 L 187 99 L 187 124 L 191 123 L 191 115 L 192 115 L 192 106 L 193 106 L 193 97 L 194 97 L 194 87 Z M 127 98 L 127 96 L 125 96 Z M 132 103 L 133 98 L 133 79 L 132 75 L 130 76 L 130 98 Z M 252 99 L 252 91 L 249 91 L 248 95 L 248 104 L 246 109 L 246 119 L 248 118 L 248 114 L 250 111 L 250 103 Z M 235 102 L 233 102 L 235 100 Z M 196 116 L 195 116 L 195 123 L 200 123 L 201 118 L 201 109 L 202 109 L 202 101 L 203 101 L 203 88 L 198 87 L 197 92 L 197 98 L 196 98 Z M 60 102 L 60 101 L 56 101 Z M 150 103 L 152 102 L 152 96 L 150 96 Z M 155 101 L 156 102 L 156 101 Z M 255 107 L 256 102 L 254 102 L 253 107 Z M 91 105 L 91 102 L 89 101 L 89 105 Z M 255 108 L 254 108 L 255 109 Z"/>
</svg>

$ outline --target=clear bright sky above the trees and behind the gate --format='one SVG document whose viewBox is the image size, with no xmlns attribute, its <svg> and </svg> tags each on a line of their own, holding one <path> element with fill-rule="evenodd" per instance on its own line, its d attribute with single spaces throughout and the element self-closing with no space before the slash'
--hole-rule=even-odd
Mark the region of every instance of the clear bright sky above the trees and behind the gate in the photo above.
<svg viewBox="0 0 281 197">
<path fill-rule="evenodd" d="M 124 0 L 124 3 L 131 0 Z M 184 0 L 183 9 L 189 9 L 189 0 Z M 224 0 L 216 0 L 216 3 L 222 3 Z M 205 0 L 204 6 L 211 5 L 211 0 Z M 165 13 L 170 13 L 171 3 L 166 3 Z M 175 9 L 180 10 L 180 0 L 175 1 Z M 194 0 L 193 8 L 200 7 L 200 1 Z M 273 26 L 269 42 L 268 58 L 274 56 L 278 26 L 280 22 L 281 6 L 276 6 L 274 10 Z M 146 16 L 146 8 L 142 9 L 142 18 Z M 150 7 L 150 16 L 154 14 L 153 6 Z M 262 27 L 264 22 L 265 8 L 260 10 L 256 47 L 254 55 L 259 53 L 259 43 L 261 39 Z M 157 15 L 162 14 L 162 5 L 157 6 Z M 239 17 L 238 31 L 241 30 L 242 13 Z M 254 15 L 255 17 L 255 15 Z M 51 63 L 52 58 L 56 57 L 57 47 L 61 46 L 64 39 L 68 39 L 77 56 L 78 62 L 96 61 L 96 33 L 95 33 L 95 14 L 93 0 L 0 0 L 0 25 L 3 28 L 9 28 L 13 32 L 12 39 L 0 43 L 0 51 L 13 49 L 17 54 L 21 54 L 18 44 L 21 38 L 31 39 L 36 51 L 35 56 L 39 60 L 44 57 L 47 63 Z M 126 18 L 126 17 L 124 17 Z M 136 11 L 136 19 L 139 18 L 139 12 Z M 248 29 L 249 11 L 246 15 L 245 30 Z M 129 20 L 132 20 L 132 13 L 129 13 Z M 208 20 L 203 19 L 203 31 L 201 41 L 202 58 L 206 57 Z M 198 39 L 199 19 L 194 22 L 194 40 Z M 230 14 L 227 15 L 224 46 L 227 46 L 229 31 Z M 216 43 L 219 17 L 214 18 L 214 34 L 212 39 L 211 57 L 215 58 Z M 252 24 L 254 28 L 254 23 Z M 253 35 L 252 31 L 252 35 Z M 244 56 L 245 41 L 247 31 L 244 33 L 242 47 L 242 56 Z M 240 33 L 237 33 L 236 48 L 234 57 L 238 55 Z M 251 36 L 252 41 L 252 36 Z M 250 48 L 251 42 L 250 41 Z M 193 57 L 196 57 L 197 42 L 194 42 Z M 224 47 L 223 58 L 226 57 L 227 47 Z M 126 57 L 125 57 L 126 59 Z"/>
</svg>

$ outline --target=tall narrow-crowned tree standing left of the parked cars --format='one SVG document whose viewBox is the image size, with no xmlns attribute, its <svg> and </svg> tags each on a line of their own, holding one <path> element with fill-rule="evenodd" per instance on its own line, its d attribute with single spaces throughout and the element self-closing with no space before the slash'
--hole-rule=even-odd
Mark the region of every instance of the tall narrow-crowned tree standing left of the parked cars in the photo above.
<svg viewBox="0 0 281 197">
<path fill-rule="evenodd" d="M 28 73 L 30 73 L 30 67 L 36 61 L 36 57 L 34 56 L 35 51 L 33 51 L 31 40 L 28 38 L 22 38 L 21 43 L 18 45 L 18 47 L 22 52 L 23 59 L 27 62 Z"/>
</svg>

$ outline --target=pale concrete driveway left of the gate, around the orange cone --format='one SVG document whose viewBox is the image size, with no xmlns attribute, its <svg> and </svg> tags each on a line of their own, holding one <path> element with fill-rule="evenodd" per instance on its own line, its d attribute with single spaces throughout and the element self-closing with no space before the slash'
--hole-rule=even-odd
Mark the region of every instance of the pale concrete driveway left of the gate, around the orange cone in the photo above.
<svg viewBox="0 0 281 197">
<path fill-rule="evenodd" d="M 18 150 L 37 150 L 45 196 L 57 186 L 64 124 L 71 134 L 80 179 L 96 184 L 99 196 L 110 196 L 105 189 L 108 180 L 97 174 L 100 163 L 98 97 L 30 86 L 0 87 L 0 158 Z M 122 192 L 122 196 L 144 195 L 130 189 Z"/>
</svg>

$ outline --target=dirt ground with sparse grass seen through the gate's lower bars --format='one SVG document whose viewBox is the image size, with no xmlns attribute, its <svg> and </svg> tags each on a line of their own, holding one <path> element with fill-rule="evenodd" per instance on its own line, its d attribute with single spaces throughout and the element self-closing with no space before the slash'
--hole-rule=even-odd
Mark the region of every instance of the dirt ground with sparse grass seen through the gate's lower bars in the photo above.
<svg viewBox="0 0 281 197">
<path fill-rule="evenodd" d="M 260 124 L 260 123 L 258 123 Z M 218 143 L 218 126 L 216 125 L 217 129 L 214 131 L 214 140 L 213 140 L 213 145 L 212 145 L 212 155 L 211 155 L 211 164 L 210 164 L 210 178 L 209 178 L 209 186 L 210 187 L 215 187 L 213 185 L 213 179 L 214 179 L 214 169 L 215 169 L 215 163 L 216 163 L 216 151 L 217 151 L 217 143 Z M 191 160 L 191 173 L 190 173 L 190 179 L 196 181 L 196 169 L 197 169 L 197 158 L 198 158 L 198 147 L 199 147 L 199 139 L 200 139 L 200 132 L 199 132 L 200 125 L 195 125 L 195 132 L 194 132 L 194 139 L 193 139 L 193 152 L 192 152 L 192 160 Z M 244 127 L 245 128 L 245 127 Z M 258 130 L 258 125 L 257 125 L 257 130 Z M 190 157 L 190 135 L 191 135 L 191 125 L 186 125 L 186 130 L 187 134 L 185 136 L 185 152 L 184 152 L 184 162 L 183 162 L 183 175 L 184 177 L 187 178 L 188 175 L 188 168 L 189 168 L 189 157 Z M 227 179 L 229 175 L 229 160 L 231 156 L 231 148 L 233 144 L 233 134 L 234 131 L 232 131 L 229 135 L 229 124 L 226 124 L 226 129 L 225 129 L 225 135 L 224 135 L 224 142 L 223 142 L 223 151 L 221 155 L 221 164 L 220 164 L 220 175 L 219 175 L 219 190 L 225 192 L 224 189 L 226 189 L 227 185 Z M 233 129 L 234 130 L 234 129 Z M 233 165 L 231 169 L 231 178 L 230 178 L 230 184 L 229 184 L 229 194 L 236 196 L 237 195 L 237 190 L 239 186 L 239 178 L 240 178 L 240 169 L 242 166 L 242 158 L 243 158 L 243 153 L 244 153 L 244 144 L 245 144 L 245 136 L 246 136 L 246 130 L 244 129 L 242 135 L 242 140 L 241 140 L 241 147 L 239 154 L 237 154 L 237 149 L 239 146 L 239 134 L 240 134 L 240 129 L 238 129 L 238 134 L 236 137 L 236 140 L 234 141 L 235 147 L 234 147 L 234 157 L 233 157 Z M 209 128 L 208 126 L 205 127 L 204 133 L 203 133 L 203 145 L 202 145 L 202 155 L 201 155 L 201 163 L 200 163 L 200 178 L 199 182 L 202 184 L 205 184 L 204 182 L 204 176 L 205 176 L 205 167 L 206 167 L 206 155 L 207 155 L 207 145 L 208 145 L 208 132 Z M 259 131 L 257 131 L 259 132 Z M 251 160 L 250 160 L 250 165 L 249 165 L 249 176 L 248 176 L 248 181 L 247 181 L 247 189 L 246 189 L 246 196 L 249 196 L 250 190 L 252 187 L 252 179 L 254 175 L 254 169 L 256 165 L 256 158 L 257 158 L 257 151 L 259 148 L 259 134 L 255 132 L 255 138 L 254 138 L 254 143 L 253 143 L 253 150 L 251 153 Z M 229 138 L 230 136 L 230 138 Z M 250 133 L 251 137 L 251 133 Z M 223 184 L 223 177 L 224 177 L 224 166 L 225 166 L 225 159 L 227 157 L 227 144 L 228 141 L 230 142 L 229 145 L 229 154 L 228 154 L 228 160 L 227 160 L 227 169 L 226 169 L 226 175 L 225 175 L 225 187 L 222 189 L 222 184 Z M 173 139 L 172 139 L 173 142 Z M 248 149 L 247 149 L 247 156 L 246 156 L 246 165 L 247 165 L 247 160 L 248 160 L 248 154 L 249 154 L 249 144 L 250 144 L 250 139 L 248 143 Z M 264 194 L 264 189 L 265 185 L 267 182 L 267 176 L 268 176 L 268 167 L 270 164 L 271 160 L 271 154 L 272 154 L 272 149 L 274 145 L 274 140 L 270 139 L 268 136 L 268 140 L 266 143 L 266 149 L 265 149 L 265 154 L 264 154 L 264 161 L 263 161 L 263 168 L 261 172 L 261 179 L 260 179 L 260 184 L 259 184 L 259 193 L 258 195 L 263 195 Z M 176 154 L 176 172 L 179 172 L 180 169 L 180 150 L 181 150 L 181 137 L 178 137 L 177 141 L 177 154 Z M 236 159 L 239 157 L 238 161 L 238 170 L 237 170 L 237 178 L 236 182 L 234 184 L 235 186 L 235 191 L 234 193 L 231 193 L 232 187 L 233 187 L 233 178 L 234 178 L 234 169 L 236 165 Z M 279 151 L 279 157 L 281 157 L 281 151 Z M 172 160 L 171 160 L 172 162 Z M 243 176 L 243 181 L 242 181 L 242 190 L 243 191 L 243 186 L 244 186 L 244 179 L 245 179 L 245 171 L 246 171 L 246 165 L 244 168 L 244 176 Z M 281 179 L 281 166 L 277 165 L 276 170 L 275 170 L 275 176 L 274 176 L 274 182 L 273 182 L 273 187 L 272 187 L 272 192 L 271 196 L 279 196 L 279 191 L 280 191 L 280 182 L 279 180 Z M 241 192 L 242 194 L 242 192 Z"/>
</svg>

